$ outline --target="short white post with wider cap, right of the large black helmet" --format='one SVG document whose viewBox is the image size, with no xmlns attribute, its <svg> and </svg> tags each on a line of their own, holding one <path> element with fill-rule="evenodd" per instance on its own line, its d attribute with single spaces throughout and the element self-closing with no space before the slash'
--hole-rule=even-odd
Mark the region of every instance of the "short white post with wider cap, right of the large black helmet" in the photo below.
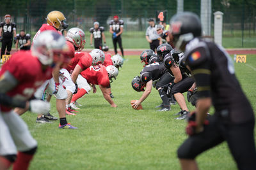
<svg viewBox="0 0 256 170">
<path fill-rule="evenodd" d="M 222 45 L 222 20 L 223 13 L 221 11 L 214 12 L 214 42 Z"/>
</svg>

